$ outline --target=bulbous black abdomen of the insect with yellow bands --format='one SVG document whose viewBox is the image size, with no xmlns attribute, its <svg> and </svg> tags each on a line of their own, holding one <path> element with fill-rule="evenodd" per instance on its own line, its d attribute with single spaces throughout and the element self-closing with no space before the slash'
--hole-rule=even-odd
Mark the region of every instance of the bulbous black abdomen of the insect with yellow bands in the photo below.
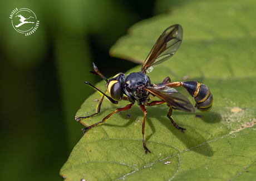
<svg viewBox="0 0 256 181">
<path fill-rule="evenodd" d="M 200 84 L 196 81 L 181 82 L 189 94 L 195 99 L 195 107 L 201 112 L 205 113 L 211 109 L 213 104 L 213 94 L 211 94 L 210 89 L 204 84 Z"/>
</svg>

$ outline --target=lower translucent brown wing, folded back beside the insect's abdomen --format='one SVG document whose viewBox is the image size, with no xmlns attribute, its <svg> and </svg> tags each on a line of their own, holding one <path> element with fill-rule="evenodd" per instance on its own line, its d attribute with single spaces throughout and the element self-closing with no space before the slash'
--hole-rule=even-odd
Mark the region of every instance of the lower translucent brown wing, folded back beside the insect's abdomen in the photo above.
<svg viewBox="0 0 256 181">
<path fill-rule="evenodd" d="M 167 86 L 161 87 L 147 87 L 145 88 L 151 94 L 156 95 L 166 103 L 175 107 L 176 109 L 184 110 L 185 112 L 194 113 L 194 106 L 190 103 L 189 99 L 183 94 L 179 93 L 176 89 Z"/>
</svg>

